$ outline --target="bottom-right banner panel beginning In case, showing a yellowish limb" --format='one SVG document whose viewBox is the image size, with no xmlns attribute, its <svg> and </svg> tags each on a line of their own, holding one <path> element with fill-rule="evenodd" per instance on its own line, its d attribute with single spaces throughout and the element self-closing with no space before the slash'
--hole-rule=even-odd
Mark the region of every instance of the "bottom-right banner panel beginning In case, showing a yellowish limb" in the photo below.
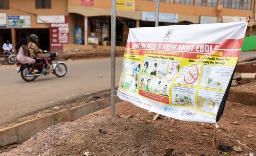
<svg viewBox="0 0 256 156">
<path fill-rule="evenodd" d="M 223 96 L 224 92 L 199 89 L 197 95 L 197 105 L 199 110 L 217 114 Z"/>
</svg>

